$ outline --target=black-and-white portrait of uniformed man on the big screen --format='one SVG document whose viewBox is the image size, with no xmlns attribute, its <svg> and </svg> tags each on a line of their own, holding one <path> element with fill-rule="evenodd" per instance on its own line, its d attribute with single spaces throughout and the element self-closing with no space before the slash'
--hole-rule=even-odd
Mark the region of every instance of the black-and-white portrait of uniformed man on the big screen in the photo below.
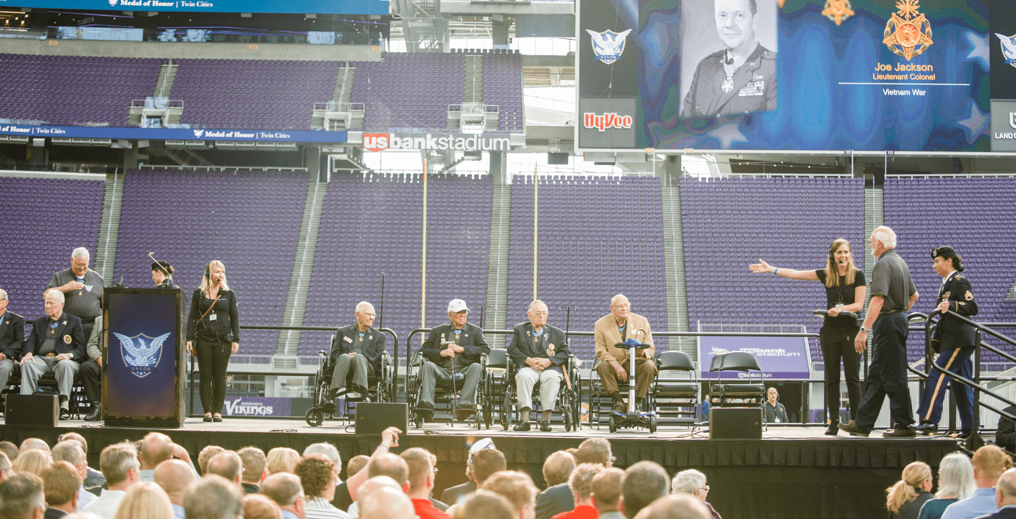
<svg viewBox="0 0 1016 519">
<path fill-rule="evenodd" d="M 681 117 L 776 109 L 775 0 L 712 0 L 684 5 Z M 713 22 L 715 32 L 692 29 L 705 26 L 707 21 Z"/>
</svg>

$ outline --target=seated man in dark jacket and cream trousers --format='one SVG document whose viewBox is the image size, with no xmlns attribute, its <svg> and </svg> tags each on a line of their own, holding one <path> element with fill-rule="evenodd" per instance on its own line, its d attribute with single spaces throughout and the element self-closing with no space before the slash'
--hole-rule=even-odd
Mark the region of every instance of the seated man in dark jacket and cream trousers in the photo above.
<svg viewBox="0 0 1016 519">
<path fill-rule="evenodd" d="M 547 323 L 547 305 L 543 301 L 537 299 L 529 303 L 526 314 L 529 322 L 515 325 L 511 344 L 508 345 L 508 356 L 514 365 L 519 366 L 515 370 L 515 388 L 520 417 L 512 429 L 529 430 L 532 387 L 538 381 L 539 404 L 543 407 L 539 430 L 550 432 L 551 413 L 554 412 L 554 402 L 558 399 L 564 377 L 562 366 L 568 361 L 571 351 L 565 343 L 565 332 Z"/>
</svg>

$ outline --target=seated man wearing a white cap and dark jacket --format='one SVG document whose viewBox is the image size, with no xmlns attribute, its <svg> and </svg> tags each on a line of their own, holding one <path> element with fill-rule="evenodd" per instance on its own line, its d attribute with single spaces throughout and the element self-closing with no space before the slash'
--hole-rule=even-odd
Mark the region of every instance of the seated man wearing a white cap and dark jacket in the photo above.
<svg viewBox="0 0 1016 519">
<path fill-rule="evenodd" d="M 458 393 L 455 412 L 459 420 L 477 412 L 472 401 L 482 375 L 480 356 L 490 354 L 491 348 L 484 339 L 484 330 L 465 322 L 468 314 L 469 308 L 465 301 L 452 299 L 448 303 L 450 322 L 435 326 L 427 336 L 421 349 L 427 361 L 420 370 L 424 394 L 418 410 L 434 410 L 434 385 L 438 377 L 450 378 L 454 370 L 456 374 L 462 373 L 463 376 L 462 379 L 454 380 Z"/>
</svg>

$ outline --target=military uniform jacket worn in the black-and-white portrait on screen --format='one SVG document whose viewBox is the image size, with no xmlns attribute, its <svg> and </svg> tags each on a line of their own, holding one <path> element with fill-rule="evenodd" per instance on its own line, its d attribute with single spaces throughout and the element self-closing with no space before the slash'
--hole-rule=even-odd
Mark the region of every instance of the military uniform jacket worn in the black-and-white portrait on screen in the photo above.
<svg viewBox="0 0 1016 519">
<path fill-rule="evenodd" d="M 726 59 L 724 49 L 699 62 L 685 96 L 683 119 L 776 109 L 776 53 L 756 47 L 729 83 L 723 69 Z"/>
</svg>

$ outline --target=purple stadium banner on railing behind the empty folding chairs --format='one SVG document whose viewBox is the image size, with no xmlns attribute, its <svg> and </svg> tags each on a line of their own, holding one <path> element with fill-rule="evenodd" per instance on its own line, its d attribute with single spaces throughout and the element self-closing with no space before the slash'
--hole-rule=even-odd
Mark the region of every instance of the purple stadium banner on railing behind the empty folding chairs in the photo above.
<svg viewBox="0 0 1016 519">
<path fill-rule="evenodd" d="M 709 373 L 712 358 L 724 353 L 748 352 L 755 355 L 762 367 L 763 378 L 810 378 L 811 359 L 808 339 L 801 337 L 700 337 L 699 369 L 702 378 L 716 378 Z M 721 378 L 758 380 L 758 372 L 725 371 Z"/>
</svg>

